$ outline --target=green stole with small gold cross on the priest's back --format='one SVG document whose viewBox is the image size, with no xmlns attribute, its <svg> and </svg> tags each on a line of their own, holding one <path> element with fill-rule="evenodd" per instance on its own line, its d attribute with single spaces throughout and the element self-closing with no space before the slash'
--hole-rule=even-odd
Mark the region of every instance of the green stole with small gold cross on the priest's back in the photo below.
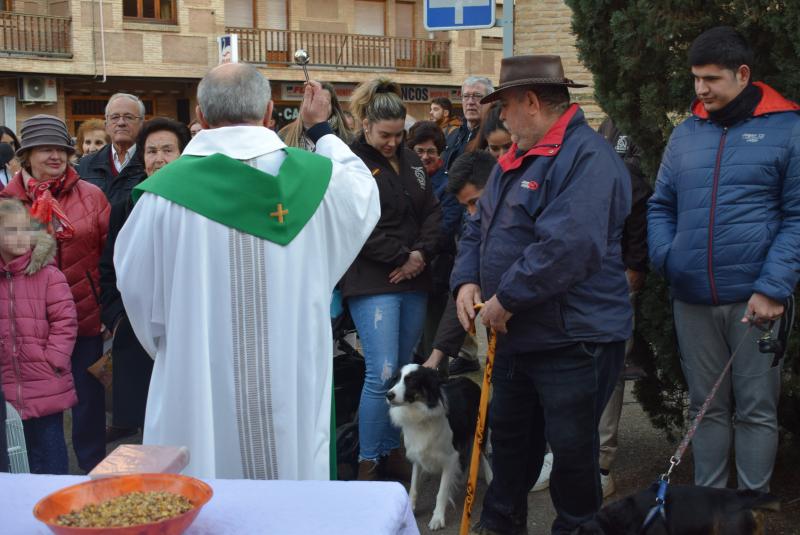
<svg viewBox="0 0 800 535">
<path fill-rule="evenodd" d="M 286 147 L 278 176 L 223 154 L 181 156 L 133 189 L 163 197 L 212 221 L 287 245 L 317 211 L 333 163 L 312 152 Z M 331 385 L 330 478 L 337 478 L 336 403 Z"/>
</svg>

